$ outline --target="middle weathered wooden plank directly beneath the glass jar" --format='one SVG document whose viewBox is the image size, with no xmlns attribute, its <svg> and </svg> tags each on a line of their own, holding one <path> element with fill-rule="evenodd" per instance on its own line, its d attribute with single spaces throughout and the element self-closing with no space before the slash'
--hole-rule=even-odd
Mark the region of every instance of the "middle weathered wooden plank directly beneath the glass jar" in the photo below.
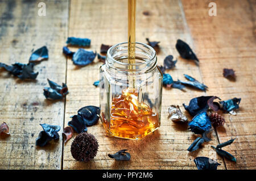
<svg viewBox="0 0 256 181">
<path fill-rule="evenodd" d="M 143 12 L 146 11 L 148 13 L 144 15 Z M 175 49 L 178 38 L 193 47 L 180 1 L 138 1 L 136 35 L 137 41 L 144 43 L 146 37 L 161 41 L 159 65 L 163 64 L 163 59 L 168 54 L 178 58 L 176 68 L 169 71 L 174 79 L 184 79 L 183 73 L 187 73 L 202 81 L 199 67 L 194 62 L 180 58 Z M 97 52 L 102 43 L 127 41 L 127 1 L 71 1 L 69 36 L 92 39 L 89 49 Z M 65 106 L 65 126 L 70 120 L 69 116 L 76 114 L 79 108 L 99 105 L 99 89 L 93 86 L 93 82 L 99 78 L 100 65 L 96 60 L 84 68 L 77 68 L 68 60 L 67 84 L 70 94 Z M 190 99 L 200 95 L 205 93 L 192 89 L 185 92 L 163 89 L 161 126 L 158 131 L 141 141 L 108 137 L 101 123 L 89 127 L 88 132 L 96 136 L 100 145 L 97 156 L 89 163 L 75 161 L 70 153 L 72 140 L 69 140 L 64 145 L 63 169 L 196 169 L 193 163 L 196 156 L 217 159 L 222 163 L 220 169 L 225 169 L 222 158 L 210 149 L 210 144 L 217 144 L 216 134 L 212 134 L 213 141 L 205 144 L 203 149 L 188 153 L 187 148 L 195 140 L 195 136 L 187 131 L 185 125 L 167 120 L 168 106 L 188 104 Z M 184 111 L 182 106 L 181 109 Z M 121 149 L 129 149 L 131 161 L 115 162 L 108 157 L 108 153 Z"/>
</svg>

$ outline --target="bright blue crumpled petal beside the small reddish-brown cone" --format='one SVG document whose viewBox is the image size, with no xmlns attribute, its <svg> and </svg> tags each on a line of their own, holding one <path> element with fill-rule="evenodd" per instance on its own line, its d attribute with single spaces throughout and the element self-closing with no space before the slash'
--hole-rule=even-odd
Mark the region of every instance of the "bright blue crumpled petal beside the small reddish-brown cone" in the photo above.
<svg viewBox="0 0 256 181">
<path fill-rule="evenodd" d="M 210 117 L 207 115 L 207 112 L 201 112 L 188 123 L 189 129 L 193 133 L 203 134 L 205 131 L 209 131 L 212 128 L 210 124 Z"/>
</svg>

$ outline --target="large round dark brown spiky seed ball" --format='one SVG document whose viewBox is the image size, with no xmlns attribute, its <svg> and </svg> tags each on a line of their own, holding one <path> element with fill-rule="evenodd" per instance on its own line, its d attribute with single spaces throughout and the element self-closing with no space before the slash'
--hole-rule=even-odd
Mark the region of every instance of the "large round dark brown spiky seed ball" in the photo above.
<svg viewBox="0 0 256 181">
<path fill-rule="evenodd" d="M 80 162 L 92 160 L 98 151 L 98 141 L 89 133 L 80 133 L 71 144 L 73 158 Z"/>
</svg>

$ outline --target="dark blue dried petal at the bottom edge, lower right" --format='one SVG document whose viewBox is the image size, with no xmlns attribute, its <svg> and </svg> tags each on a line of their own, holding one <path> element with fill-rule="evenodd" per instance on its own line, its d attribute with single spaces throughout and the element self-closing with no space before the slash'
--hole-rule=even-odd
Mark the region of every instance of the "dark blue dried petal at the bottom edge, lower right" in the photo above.
<svg viewBox="0 0 256 181">
<path fill-rule="evenodd" d="M 198 170 L 217 170 L 217 167 L 221 165 L 220 163 L 207 157 L 196 157 L 194 162 Z"/>
</svg>

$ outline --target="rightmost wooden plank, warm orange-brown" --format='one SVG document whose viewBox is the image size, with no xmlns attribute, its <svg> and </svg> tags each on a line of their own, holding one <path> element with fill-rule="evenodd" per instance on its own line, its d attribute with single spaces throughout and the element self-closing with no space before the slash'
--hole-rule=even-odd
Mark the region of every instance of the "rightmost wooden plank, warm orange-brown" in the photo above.
<svg viewBox="0 0 256 181">
<path fill-rule="evenodd" d="M 209 2 L 183 0 L 185 15 L 195 41 L 200 69 L 209 87 L 208 95 L 223 100 L 242 98 L 237 116 L 225 114 L 224 128 L 218 128 L 220 142 L 236 137 L 224 148 L 237 158 L 225 159 L 227 169 L 255 169 L 255 1 L 214 1 L 217 16 L 209 16 Z M 222 75 L 223 68 L 236 71 L 236 82 Z"/>
</svg>

